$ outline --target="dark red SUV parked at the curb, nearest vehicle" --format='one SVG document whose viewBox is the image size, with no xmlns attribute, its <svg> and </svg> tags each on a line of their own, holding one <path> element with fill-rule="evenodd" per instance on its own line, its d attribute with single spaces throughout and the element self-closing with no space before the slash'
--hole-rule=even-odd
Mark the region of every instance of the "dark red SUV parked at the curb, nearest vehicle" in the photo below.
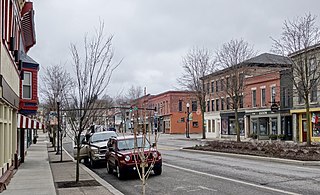
<svg viewBox="0 0 320 195">
<path fill-rule="evenodd" d="M 111 138 L 108 142 L 106 152 L 107 171 L 112 174 L 116 172 L 119 179 L 123 179 L 130 172 L 136 172 L 141 167 L 141 159 L 138 150 L 143 148 L 143 137 L 137 136 L 137 148 L 134 148 L 135 138 L 133 135 Z M 147 157 L 148 167 L 152 166 L 155 175 L 162 173 L 161 153 L 146 140 L 144 155 Z"/>
</svg>

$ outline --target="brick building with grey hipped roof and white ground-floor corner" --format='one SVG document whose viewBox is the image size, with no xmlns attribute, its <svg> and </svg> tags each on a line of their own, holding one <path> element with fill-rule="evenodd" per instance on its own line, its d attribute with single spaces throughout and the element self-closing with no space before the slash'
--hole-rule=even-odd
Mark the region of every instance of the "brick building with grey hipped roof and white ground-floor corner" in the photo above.
<svg viewBox="0 0 320 195">
<path fill-rule="evenodd" d="M 250 115 L 247 112 L 253 110 L 251 109 L 252 106 L 250 107 L 252 105 L 251 97 L 256 92 L 251 90 L 250 85 L 252 89 L 259 85 L 260 90 L 260 85 L 263 85 L 260 82 L 268 82 L 266 76 L 260 75 L 270 71 L 279 72 L 286 69 L 290 66 L 290 60 L 282 56 L 263 53 L 236 66 L 237 68 L 222 69 L 201 78 L 206 89 L 207 109 L 204 118 L 207 137 L 234 138 L 236 135 L 235 111 L 234 105 L 232 105 L 232 97 L 235 95 L 230 96 L 230 93 L 228 93 L 228 90 L 232 88 L 231 85 L 234 79 L 235 83 L 239 83 L 237 87 L 241 88 L 238 94 L 240 100 L 237 105 L 240 135 L 247 137 L 250 133 L 251 122 L 249 117 L 247 118 L 246 116 Z M 259 81 L 259 78 L 266 78 L 266 80 Z M 276 80 L 279 86 L 280 79 L 277 77 Z M 272 81 L 272 78 L 270 78 L 270 81 Z M 249 86 L 247 86 L 247 82 Z M 267 108 L 269 100 L 266 97 L 264 102 L 255 102 L 254 109 L 256 109 L 258 104 L 261 105 L 261 103 L 263 103 L 261 108 L 265 107 L 270 110 L 270 108 Z"/>
</svg>

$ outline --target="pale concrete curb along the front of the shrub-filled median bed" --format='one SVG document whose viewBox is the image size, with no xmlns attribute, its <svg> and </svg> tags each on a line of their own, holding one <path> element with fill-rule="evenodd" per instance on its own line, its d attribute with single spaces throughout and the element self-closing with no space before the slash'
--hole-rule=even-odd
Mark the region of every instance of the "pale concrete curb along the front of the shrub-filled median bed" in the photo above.
<svg viewBox="0 0 320 195">
<path fill-rule="evenodd" d="M 197 152 L 197 153 L 202 153 L 202 154 L 211 154 L 211 155 L 217 155 L 217 156 L 226 156 L 226 157 L 242 158 L 242 159 L 249 159 L 249 160 L 279 162 L 279 163 L 284 163 L 284 164 L 293 164 L 293 165 L 302 165 L 302 166 L 320 166 L 320 161 L 300 161 L 300 160 L 281 159 L 281 158 L 264 157 L 264 156 L 253 156 L 253 155 L 245 155 L 245 154 L 233 154 L 233 153 L 225 153 L 225 152 L 192 150 L 192 149 L 184 149 L 184 148 L 180 148 L 180 150 L 185 151 L 185 152 L 192 152 L 192 153 Z"/>
</svg>

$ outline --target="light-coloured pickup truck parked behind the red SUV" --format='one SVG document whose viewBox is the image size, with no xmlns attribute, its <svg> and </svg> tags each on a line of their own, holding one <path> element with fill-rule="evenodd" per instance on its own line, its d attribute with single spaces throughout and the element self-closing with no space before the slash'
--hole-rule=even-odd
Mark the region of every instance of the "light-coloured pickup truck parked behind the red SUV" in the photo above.
<svg viewBox="0 0 320 195">
<path fill-rule="evenodd" d="M 107 142 L 112 137 L 117 137 L 114 131 L 102 131 L 93 134 L 87 134 L 82 140 L 80 149 L 80 159 L 89 162 L 91 167 L 94 167 L 98 161 L 105 159 L 107 151 Z M 76 151 L 74 152 L 76 156 Z"/>
</svg>

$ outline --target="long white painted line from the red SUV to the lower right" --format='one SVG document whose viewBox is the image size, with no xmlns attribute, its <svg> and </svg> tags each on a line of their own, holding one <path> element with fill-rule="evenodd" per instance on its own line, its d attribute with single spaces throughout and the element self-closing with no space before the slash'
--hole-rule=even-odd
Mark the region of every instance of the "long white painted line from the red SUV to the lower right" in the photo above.
<svg viewBox="0 0 320 195">
<path fill-rule="evenodd" d="M 275 188 L 271 188 L 271 187 L 267 187 L 267 186 L 261 186 L 261 185 L 257 185 L 257 184 L 253 184 L 253 183 L 248 183 L 248 182 L 244 182 L 244 181 L 240 181 L 240 180 L 236 180 L 236 179 L 231 179 L 231 178 L 227 178 L 227 177 L 223 177 L 223 176 L 219 176 L 219 175 L 213 175 L 213 174 L 209 174 L 209 173 L 195 171 L 195 170 L 192 170 L 192 169 L 178 167 L 178 166 L 171 165 L 171 164 L 168 164 L 168 163 L 163 163 L 163 165 L 168 166 L 168 167 L 172 167 L 172 168 L 175 168 L 175 169 L 180 169 L 180 170 L 183 170 L 183 171 L 188 171 L 188 172 L 192 172 L 192 173 L 196 173 L 196 174 L 200 174 L 200 175 L 205 175 L 205 176 L 209 176 L 209 177 L 214 177 L 214 178 L 218 178 L 218 179 L 232 181 L 232 182 L 235 182 L 235 183 L 240 183 L 240 184 L 253 186 L 253 187 L 256 187 L 256 188 L 261 188 L 261 189 L 270 190 L 270 191 L 274 191 L 274 192 L 279 192 L 279 193 L 283 193 L 283 194 L 300 195 L 300 194 L 294 193 L 294 192 L 279 190 L 279 189 L 275 189 Z"/>
</svg>

